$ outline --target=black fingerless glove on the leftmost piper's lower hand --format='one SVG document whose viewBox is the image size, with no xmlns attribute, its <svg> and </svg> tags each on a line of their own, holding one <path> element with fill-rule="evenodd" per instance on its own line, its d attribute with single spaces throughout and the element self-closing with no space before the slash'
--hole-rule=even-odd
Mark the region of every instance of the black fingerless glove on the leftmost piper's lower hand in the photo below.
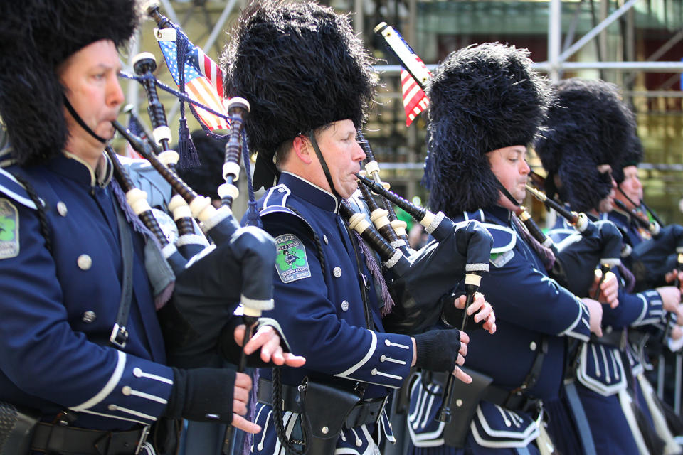
<svg viewBox="0 0 683 455">
<path fill-rule="evenodd" d="M 233 421 L 234 370 L 173 368 L 173 380 L 164 417 L 226 424 Z"/>
</svg>

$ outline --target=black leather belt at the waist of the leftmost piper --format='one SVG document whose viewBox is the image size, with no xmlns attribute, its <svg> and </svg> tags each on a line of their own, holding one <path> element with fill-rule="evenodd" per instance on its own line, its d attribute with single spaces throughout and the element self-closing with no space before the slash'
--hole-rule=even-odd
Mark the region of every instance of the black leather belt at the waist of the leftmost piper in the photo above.
<svg viewBox="0 0 683 455">
<path fill-rule="evenodd" d="M 104 432 L 39 422 L 33 430 L 31 450 L 63 455 L 133 455 L 139 453 L 148 433 L 149 427 Z"/>
</svg>

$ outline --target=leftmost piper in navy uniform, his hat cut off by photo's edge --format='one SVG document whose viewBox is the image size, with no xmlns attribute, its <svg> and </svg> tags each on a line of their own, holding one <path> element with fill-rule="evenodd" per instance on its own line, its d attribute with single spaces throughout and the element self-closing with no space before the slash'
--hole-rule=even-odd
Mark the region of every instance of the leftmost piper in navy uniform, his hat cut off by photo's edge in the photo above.
<svg viewBox="0 0 683 455">
<path fill-rule="evenodd" d="M 104 153 L 124 100 L 117 46 L 134 33 L 135 6 L 0 6 L 0 115 L 11 142 L 0 169 L 3 454 L 172 451 L 154 426 L 181 417 L 259 429 L 241 417 L 248 375 L 166 366 L 155 303 L 168 299 L 172 277 L 152 272 L 168 265 L 112 179 L 118 160 Z M 302 363 L 282 353 L 272 328 L 245 349 L 261 347 L 264 361 Z"/>
</svg>

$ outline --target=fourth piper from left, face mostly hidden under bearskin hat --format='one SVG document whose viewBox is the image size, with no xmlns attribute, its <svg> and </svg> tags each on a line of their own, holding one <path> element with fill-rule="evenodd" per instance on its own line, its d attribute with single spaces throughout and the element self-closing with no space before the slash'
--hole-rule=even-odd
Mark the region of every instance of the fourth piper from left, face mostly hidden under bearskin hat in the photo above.
<svg viewBox="0 0 683 455">
<path fill-rule="evenodd" d="M 635 119 L 620 100 L 617 88 L 601 80 L 563 80 L 556 86 L 556 105 L 549 110 L 547 132 L 536 141 L 536 152 L 548 172 L 545 187 L 572 210 L 586 213 L 596 224 L 612 210 L 615 181 L 612 168 L 632 146 Z M 558 244 L 578 239 L 565 220 L 558 220 L 549 235 Z M 571 234 L 572 237 L 567 237 Z M 588 269 L 588 270 L 586 270 Z M 591 273 L 591 267 L 565 269 L 566 274 Z M 605 306 L 603 338 L 591 338 L 571 355 L 567 371 L 575 384 L 576 419 L 591 428 L 595 453 L 677 453 L 680 448 L 670 434 L 664 447 L 655 432 L 645 403 L 649 384 L 642 384 L 642 346 L 636 332 L 660 323 L 665 311 L 679 313 L 679 291 L 675 287 L 640 289 L 635 293 L 632 274 L 623 266 L 614 271 L 625 279 L 618 306 Z M 576 290 L 588 295 L 588 289 Z M 640 339 L 640 337 L 639 337 Z"/>
</svg>

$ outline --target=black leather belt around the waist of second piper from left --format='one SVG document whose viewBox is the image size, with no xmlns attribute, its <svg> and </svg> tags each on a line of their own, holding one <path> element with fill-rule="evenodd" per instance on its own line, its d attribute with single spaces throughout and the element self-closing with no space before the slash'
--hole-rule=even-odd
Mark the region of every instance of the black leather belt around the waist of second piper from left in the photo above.
<svg viewBox="0 0 683 455">
<path fill-rule="evenodd" d="M 258 401 L 272 405 L 272 382 L 258 378 Z M 382 415 L 387 397 L 373 398 L 359 402 L 353 407 L 344 421 L 344 427 L 355 428 L 365 424 L 375 424 Z M 282 408 L 288 412 L 301 413 L 299 390 L 291 385 L 282 385 Z"/>
</svg>

